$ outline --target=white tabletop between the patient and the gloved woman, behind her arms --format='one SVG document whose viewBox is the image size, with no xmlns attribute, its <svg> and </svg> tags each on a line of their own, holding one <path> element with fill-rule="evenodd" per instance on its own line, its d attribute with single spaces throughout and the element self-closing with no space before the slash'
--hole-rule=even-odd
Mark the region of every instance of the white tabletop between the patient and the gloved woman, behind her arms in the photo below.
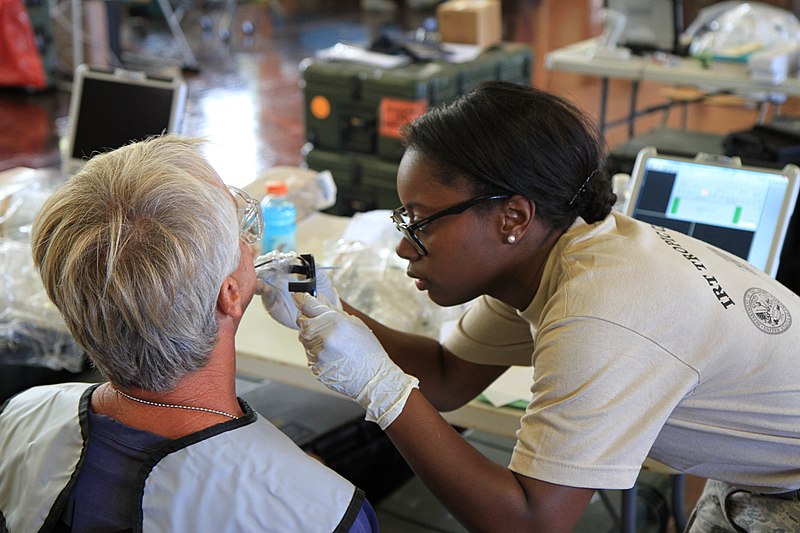
<svg viewBox="0 0 800 533">
<path fill-rule="evenodd" d="M 304 220 L 297 231 L 299 251 L 319 257 L 326 241 L 338 239 L 349 223 L 347 217 L 316 213 Z M 305 352 L 297 332 L 270 318 L 258 296 L 244 314 L 236 334 L 237 372 L 266 378 L 297 387 L 336 393 L 320 384 L 308 369 Z M 474 400 L 444 417 L 453 425 L 515 438 L 521 409 L 494 407 Z"/>
</svg>

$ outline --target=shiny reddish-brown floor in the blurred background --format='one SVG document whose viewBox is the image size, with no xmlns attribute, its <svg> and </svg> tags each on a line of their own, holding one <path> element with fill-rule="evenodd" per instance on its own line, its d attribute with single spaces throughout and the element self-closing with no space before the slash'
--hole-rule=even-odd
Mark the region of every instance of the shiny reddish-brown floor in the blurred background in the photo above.
<svg viewBox="0 0 800 533">
<path fill-rule="evenodd" d="M 212 23 L 220 5 L 208 3 L 184 18 L 184 31 L 199 62 L 199 72 L 187 72 L 189 102 L 183 133 L 209 139 L 207 156 L 223 180 L 245 185 L 274 166 L 302 165 L 305 144 L 302 90 L 298 64 L 315 50 L 337 41 L 369 42 L 385 26 L 418 27 L 433 8 L 412 10 L 404 2 L 392 13 L 362 10 L 358 0 L 260 1 L 238 6 L 229 41 L 217 28 L 203 31 L 202 16 Z M 574 74 L 547 72 L 542 58 L 553 47 L 599 31 L 597 0 L 518 0 L 503 2 L 504 38 L 534 48 L 532 83 L 564 95 L 593 116 L 599 110 L 599 81 Z M 252 33 L 242 27 L 252 25 Z M 213 24 L 212 24 L 213 26 Z M 158 16 L 123 17 L 123 59 L 126 66 L 174 69 L 180 65 L 175 43 Z M 67 41 L 68 46 L 68 41 Z M 63 49 L 63 43 L 61 48 Z M 60 50 L 63 52 L 63 50 Z M 59 143 L 65 134 L 69 92 L 66 78 L 41 93 L 0 90 L 0 171 L 18 166 L 57 167 Z M 642 105 L 663 101 L 668 87 L 645 84 Z M 611 84 L 610 116 L 620 117 L 628 105 L 625 82 Z M 797 113 L 796 103 L 784 111 Z M 749 128 L 757 110 L 730 105 L 691 106 L 688 127 L 725 133 Z M 113 118 L 112 118 L 113 119 Z M 660 123 L 661 116 L 642 119 L 640 131 Z M 669 116 L 680 125 L 680 114 Z M 609 145 L 624 142 L 624 128 L 607 132 Z"/>
</svg>

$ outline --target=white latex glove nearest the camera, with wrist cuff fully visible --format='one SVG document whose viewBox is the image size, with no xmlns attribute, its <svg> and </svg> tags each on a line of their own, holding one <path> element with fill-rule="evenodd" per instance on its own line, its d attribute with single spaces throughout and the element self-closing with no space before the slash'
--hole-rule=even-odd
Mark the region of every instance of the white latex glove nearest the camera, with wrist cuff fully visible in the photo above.
<svg viewBox="0 0 800 533">
<path fill-rule="evenodd" d="M 329 389 L 366 409 L 381 429 L 400 415 L 419 380 L 403 372 L 372 331 L 358 318 L 310 294 L 295 294 L 300 305 L 300 342 L 311 371 Z"/>
</svg>

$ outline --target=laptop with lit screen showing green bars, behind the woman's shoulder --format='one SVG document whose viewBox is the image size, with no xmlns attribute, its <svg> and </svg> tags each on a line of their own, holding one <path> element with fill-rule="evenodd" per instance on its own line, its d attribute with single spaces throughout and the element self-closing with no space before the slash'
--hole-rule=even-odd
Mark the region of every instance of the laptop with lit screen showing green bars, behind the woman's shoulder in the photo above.
<svg viewBox="0 0 800 533">
<path fill-rule="evenodd" d="M 662 155 L 643 148 L 627 214 L 732 253 L 775 277 L 800 168 L 742 166 L 736 158 Z"/>
</svg>

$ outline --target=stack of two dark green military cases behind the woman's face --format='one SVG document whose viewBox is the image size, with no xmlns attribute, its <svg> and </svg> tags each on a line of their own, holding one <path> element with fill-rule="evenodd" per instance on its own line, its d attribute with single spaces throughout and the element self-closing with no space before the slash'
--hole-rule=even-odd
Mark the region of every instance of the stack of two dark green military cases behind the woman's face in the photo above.
<svg viewBox="0 0 800 533">
<path fill-rule="evenodd" d="M 483 81 L 531 83 L 533 53 L 501 43 L 466 63 L 430 61 L 382 69 L 345 61 L 301 64 L 306 164 L 330 170 L 338 188 L 329 213 L 352 215 L 399 205 L 400 128 Z"/>
</svg>

